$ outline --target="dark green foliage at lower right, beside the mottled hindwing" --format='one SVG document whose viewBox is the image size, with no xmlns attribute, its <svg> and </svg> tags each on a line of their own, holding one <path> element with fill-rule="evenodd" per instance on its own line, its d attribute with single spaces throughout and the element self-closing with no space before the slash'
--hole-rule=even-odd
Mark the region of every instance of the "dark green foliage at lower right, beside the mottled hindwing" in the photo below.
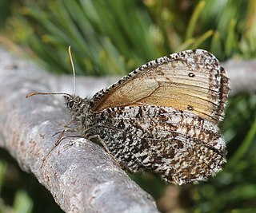
<svg viewBox="0 0 256 213">
<path fill-rule="evenodd" d="M 194 188 L 198 212 L 254 212 L 256 209 L 256 96 L 238 95 L 230 100 L 222 132 L 228 162 L 208 183 Z"/>
</svg>

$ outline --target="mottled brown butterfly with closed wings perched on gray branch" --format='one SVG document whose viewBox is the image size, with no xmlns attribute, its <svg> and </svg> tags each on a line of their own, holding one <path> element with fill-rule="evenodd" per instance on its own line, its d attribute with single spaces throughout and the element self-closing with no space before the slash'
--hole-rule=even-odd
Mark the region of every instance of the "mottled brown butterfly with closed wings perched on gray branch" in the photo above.
<svg viewBox="0 0 256 213">
<path fill-rule="evenodd" d="M 122 168 L 182 185 L 226 164 L 218 123 L 228 92 L 226 70 L 195 49 L 150 61 L 92 98 L 62 94 L 81 136 L 99 141 Z"/>
</svg>

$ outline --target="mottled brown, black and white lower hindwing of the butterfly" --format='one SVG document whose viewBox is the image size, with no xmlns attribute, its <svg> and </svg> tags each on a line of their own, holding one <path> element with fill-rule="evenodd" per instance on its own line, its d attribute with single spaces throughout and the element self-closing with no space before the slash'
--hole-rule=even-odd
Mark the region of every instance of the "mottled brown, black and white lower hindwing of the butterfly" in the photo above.
<svg viewBox="0 0 256 213">
<path fill-rule="evenodd" d="M 150 171 L 178 184 L 205 180 L 226 163 L 218 127 L 191 112 L 158 106 L 94 113 L 93 134 L 130 172 Z"/>
</svg>

